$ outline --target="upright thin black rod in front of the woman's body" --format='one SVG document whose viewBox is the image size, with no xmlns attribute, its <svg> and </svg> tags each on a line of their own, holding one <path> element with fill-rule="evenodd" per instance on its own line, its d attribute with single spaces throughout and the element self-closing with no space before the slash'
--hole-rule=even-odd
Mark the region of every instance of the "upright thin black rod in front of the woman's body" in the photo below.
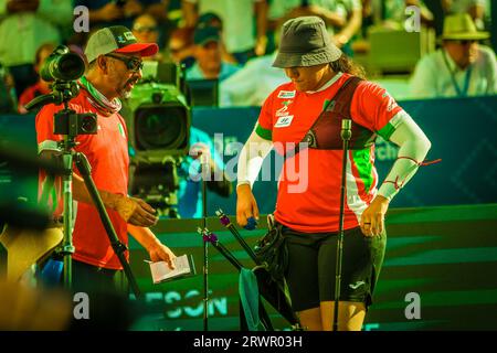
<svg viewBox="0 0 497 353">
<path fill-rule="evenodd" d="M 352 120 L 341 120 L 341 139 L 343 141 L 343 157 L 341 163 L 341 185 L 340 185 L 340 217 L 338 224 L 337 238 L 337 265 L 335 276 L 335 310 L 334 310 L 334 325 L 332 330 L 338 331 L 338 303 L 340 301 L 341 287 L 341 263 L 343 256 L 343 212 L 345 212 L 345 193 L 346 193 L 346 171 L 347 171 L 347 154 L 349 150 L 349 140 L 352 137 Z"/>
</svg>

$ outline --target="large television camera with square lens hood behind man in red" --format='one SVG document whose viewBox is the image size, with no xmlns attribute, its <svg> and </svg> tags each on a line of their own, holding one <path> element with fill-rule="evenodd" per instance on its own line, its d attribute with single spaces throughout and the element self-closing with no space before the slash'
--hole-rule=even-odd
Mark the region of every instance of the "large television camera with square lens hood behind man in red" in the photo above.
<svg viewBox="0 0 497 353">
<path fill-rule="evenodd" d="M 127 101 L 130 143 L 129 194 L 179 217 L 178 167 L 188 154 L 191 111 L 182 69 L 172 63 L 145 62 L 144 78 Z"/>
</svg>

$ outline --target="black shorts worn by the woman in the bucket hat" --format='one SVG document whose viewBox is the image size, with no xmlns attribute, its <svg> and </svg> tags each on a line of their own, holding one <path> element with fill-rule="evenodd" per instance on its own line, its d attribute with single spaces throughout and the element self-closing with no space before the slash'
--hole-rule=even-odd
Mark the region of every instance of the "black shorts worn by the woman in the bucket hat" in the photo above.
<svg viewBox="0 0 497 353">
<path fill-rule="evenodd" d="M 295 311 L 335 300 L 337 233 L 299 233 L 283 227 L 288 247 L 285 278 Z M 340 301 L 372 303 L 387 246 L 387 233 L 366 237 L 359 227 L 343 233 Z"/>
</svg>

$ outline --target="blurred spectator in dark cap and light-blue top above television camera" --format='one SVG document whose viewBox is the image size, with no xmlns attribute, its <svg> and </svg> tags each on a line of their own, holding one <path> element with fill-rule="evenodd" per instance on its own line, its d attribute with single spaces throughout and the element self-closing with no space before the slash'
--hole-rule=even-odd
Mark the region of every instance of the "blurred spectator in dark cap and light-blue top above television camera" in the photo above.
<svg viewBox="0 0 497 353">
<path fill-rule="evenodd" d="M 187 71 L 187 79 L 223 81 L 233 75 L 240 67 L 222 61 L 221 35 L 212 26 L 198 28 L 193 33 L 197 62 Z"/>
</svg>

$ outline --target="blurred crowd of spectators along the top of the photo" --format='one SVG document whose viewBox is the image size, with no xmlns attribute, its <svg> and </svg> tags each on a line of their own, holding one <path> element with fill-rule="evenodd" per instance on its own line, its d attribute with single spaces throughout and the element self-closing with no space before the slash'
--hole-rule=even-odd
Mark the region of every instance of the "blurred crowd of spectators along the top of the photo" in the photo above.
<svg viewBox="0 0 497 353">
<path fill-rule="evenodd" d="M 257 106 L 287 81 L 283 71 L 272 67 L 278 30 L 286 20 L 322 18 L 343 53 L 362 58 L 369 68 L 370 33 L 381 29 L 408 34 L 413 11 L 419 13 L 411 22 L 420 25 L 415 31 L 433 31 L 437 41 L 415 67 L 404 71 L 411 75 L 405 95 L 494 94 L 495 53 L 487 35 L 490 0 L 4 0 L 0 110 L 14 107 L 27 113 L 28 101 L 50 92 L 39 71 L 51 51 L 64 44 L 84 56 L 88 35 L 107 25 L 126 25 L 138 41 L 157 43 L 160 52 L 147 60 L 182 65 L 187 81 L 218 79 L 220 106 Z M 452 20 L 444 26 L 447 17 Z M 86 19 L 88 31 L 76 31 L 76 23 Z M 451 87 L 432 77 L 443 75 L 443 66 Z"/>
</svg>

